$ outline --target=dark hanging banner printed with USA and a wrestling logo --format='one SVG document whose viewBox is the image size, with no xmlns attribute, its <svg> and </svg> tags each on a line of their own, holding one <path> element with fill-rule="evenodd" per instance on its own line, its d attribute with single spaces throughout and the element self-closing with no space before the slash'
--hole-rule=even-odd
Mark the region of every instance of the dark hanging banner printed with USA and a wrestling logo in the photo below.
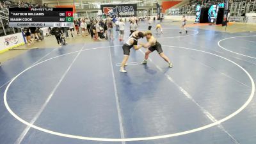
<svg viewBox="0 0 256 144">
<path fill-rule="evenodd" d="M 110 17 L 136 16 L 137 4 L 104 4 L 100 5 L 102 14 Z"/>
</svg>

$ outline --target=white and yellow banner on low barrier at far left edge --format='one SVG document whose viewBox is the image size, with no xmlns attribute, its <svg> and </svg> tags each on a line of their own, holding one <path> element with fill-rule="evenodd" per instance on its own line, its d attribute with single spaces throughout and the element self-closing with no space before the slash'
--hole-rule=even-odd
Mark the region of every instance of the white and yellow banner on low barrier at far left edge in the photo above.
<svg viewBox="0 0 256 144">
<path fill-rule="evenodd" d="M 20 45 L 25 44 L 24 36 L 22 33 L 1 36 L 0 42 L 0 52 L 8 51 L 8 49 L 12 49 L 13 47 L 19 47 Z"/>
</svg>

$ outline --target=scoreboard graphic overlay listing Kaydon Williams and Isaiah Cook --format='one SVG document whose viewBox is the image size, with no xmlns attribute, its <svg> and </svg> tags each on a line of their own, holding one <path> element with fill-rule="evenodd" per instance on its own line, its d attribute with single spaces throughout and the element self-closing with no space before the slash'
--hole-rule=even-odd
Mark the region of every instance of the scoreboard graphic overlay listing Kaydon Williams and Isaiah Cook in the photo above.
<svg viewBox="0 0 256 144">
<path fill-rule="evenodd" d="M 73 8 L 9 8 L 10 27 L 70 27 Z"/>
</svg>

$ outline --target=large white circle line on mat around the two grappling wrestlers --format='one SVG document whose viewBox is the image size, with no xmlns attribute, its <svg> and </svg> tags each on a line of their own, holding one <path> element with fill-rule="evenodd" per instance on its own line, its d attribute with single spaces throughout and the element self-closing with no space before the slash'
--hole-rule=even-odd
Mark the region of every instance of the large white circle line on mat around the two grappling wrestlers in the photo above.
<svg viewBox="0 0 256 144">
<path fill-rule="evenodd" d="M 108 47 L 110 48 L 110 47 L 120 47 L 120 46 L 122 46 L 122 45 L 115 45 L 115 46 L 108 46 Z M 103 49 L 103 48 L 108 48 L 108 47 L 96 47 L 96 48 L 92 48 L 92 49 L 84 49 L 82 51 L 88 51 L 88 50 L 93 50 L 93 49 Z M 11 84 L 13 83 L 13 81 L 15 81 L 15 79 L 17 79 L 17 77 L 19 77 L 21 74 L 23 74 L 24 72 L 26 72 L 30 68 L 33 68 L 36 65 L 40 65 L 41 63 L 44 63 L 45 61 L 49 61 L 49 60 L 52 60 L 52 59 L 55 59 L 55 58 L 59 58 L 61 56 L 66 56 L 68 54 L 74 54 L 76 52 L 79 52 L 79 51 L 74 51 L 74 52 L 69 52 L 67 54 L 62 54 L 60 56 L 55 56 L 53 58 L 49 58 L 47 60 L 41 61 L 40 63 L 36 63 L 35 65 L 33 65 L 31 67 L 28 67 L 25 70 L 23 70 L 22 72 L 20 72 L 17 76 L 13 77 L 12 81 L 10 81 L 10 83 L 8 84 L 8 86 L 6 86 L 6 89 L 4 90 L 4 106 L 6 107 L 8 112 L 13 117 L 15 117 L 17 120 L 19 120 L 23 124 L 26 124 L 29 127 L 33 127 L 34 129 L 37 129 L 38 131 L 47 132 L 49 134 L 54 134 L 56 136 L 63 136 L 63 137 L 66 137 L 66 138 L 74 138 L 74 139 L 79 139 L 79 140 L 91 140 L 91 141 L 145 141 L 145 140 L 158 140 L 158 139 L 162 139 L 162 138 L 171 138 L 171 137 L 174 137 L 174 136 L 181 136 L 181 135 L 184 135 L 184 134 L 189 134 L 189 133 L 193 133 L 193 132 L 202 131 L 204 129 L 208 129 L 209 127 L 213 127 L 215 125 L 221 124 L 222 122 L 225 122 L 225 121 L 229 120 L 230 118 L 232 118 L 233 116 L 237 115 L 238 113 L 243 111 L 243 109 L 246 108 L 246 106 L 248 106 L 248 104 L 250 104 L 250 102 L 252 101 L 253 95 L 255 93 L 255 83 L 253 81 L 253 78 L 243 67 L 238 65 L 236 62 L 234 62 L 232 60 L 229 60 L 227 58 L 224 58 L 223 56 L 219 56 L 219 55 L 213 54 L 211 52 L 201 51 L 201 50 L 198 50 L 198 49 L 191 49 L 191 48 L 188 48 L 188 47 L 177 47 L 177 46 L 170 46 L 170 45 L 163 45 L 163 47 L 174 47 L 174 48 L 179 48 L 179 49 L 186 49 L 186 50 L 191 50 L 191 51 L 203 52 L 203 53 L 211 54 L 213 56 L 217 56 L 217 57 L 222 58 L 224 60 L 230 61 L 230 63 L 233 63 L 237 67 L 241 68 L 245 72 L 245 74 L 249 77 L 249 79 L 250 79 L 250 81 L 252 83 L 252 92 L 250 93 L 249 98 L 246 100 L 246 102 L 243 104 L 243 106 L 241 106 L 241 108 L 237 109 L 234 113 L 226 116 L 225 118 L 222 118 L 221 120 L 213 122 L 212 124 L 207 124 L 207 125 L 204 125 L 202 127 L 198 127 L 196 129 L 191 129 L 191 130 L 188 130 L 188 131 L 182 131 L 182 132 L 177 132 L 177 133 L 172 133 L 172 134 L 164 134 L 164 135 L 161 135 L 161 136 L 141 137 L 141 138 L 92 138 L 92 137 L 85 137 L 85 136 L 76 136 L 76 135 L 72 135 L 72 134 L 64 134 L 64 133 L 61 133 L 61 132 L 51 131 L 49 129 L 44 129 L 42 127 L 38 127 L 36 125 L 30 124 L 26 120 L 23 120 L 18 115 L 16 115 L 12 111 L 12 109 L 10 108 L 10 106 L 8 105 L 8 102 L 7 102 L 8 89 L 10 88 Z"/>
</svg>

